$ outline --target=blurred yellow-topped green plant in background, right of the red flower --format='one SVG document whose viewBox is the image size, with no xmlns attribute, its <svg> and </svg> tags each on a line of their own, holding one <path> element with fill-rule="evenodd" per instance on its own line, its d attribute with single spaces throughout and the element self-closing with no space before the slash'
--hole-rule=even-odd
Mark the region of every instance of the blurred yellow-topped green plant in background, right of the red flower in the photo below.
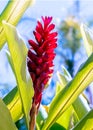
<svg viewBox="0 0 93 130">
<path fill-rule="evenodd" d="M 75 55 L 81 47 L 80 22 L 75 17 L 67 17 L 60 23 L 59 46 L 58 54 L 71 76 L 74 76 Z"/>
</svg>

